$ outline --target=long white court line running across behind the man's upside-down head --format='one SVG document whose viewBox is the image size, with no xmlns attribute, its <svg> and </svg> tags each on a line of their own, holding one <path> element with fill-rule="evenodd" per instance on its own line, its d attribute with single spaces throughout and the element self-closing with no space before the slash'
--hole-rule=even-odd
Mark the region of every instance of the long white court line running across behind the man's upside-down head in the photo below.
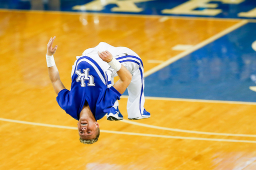
<svg viewBox="0 0 256 170">
<path fill-rule="evenodd" d="M 49 124 L 43 124 L 43 123 L 18 121 L 18 120 L 12 120 L 12 119 L 4 119 L 4 118 L 0 118 L 0 121 L 12 122 L 12 123 L 20 123 L 20 124 L 27 124 L 27 125 L 35 125 L 35 126 L 44 126 L 44 127 L 51 127 L 51 128 L 61 128 L 61 129 L 77 130 L 77 128 L 69 127 L 69 126 L 49 125 Z M 141 133 L 133 133 L 133 132 L 118 132 L 118 131 L 107 131 L 107 130 L 100 130 L 100 132 L 110 133 L 110 134 L 121 134 L 121 135 L 156 137 L 156 138 L 186 139 L 186 140 L 198 140 L 198 141 L 217 141 L 217 142 L 239 142 L 239 143 L 253 143 L 253 144 L 256 144 L 256 141 L 246 141 L 246 140 L 179 137 L 179 136 L 153 135 L 153 134 L 141 134 Z"/>
</svg>

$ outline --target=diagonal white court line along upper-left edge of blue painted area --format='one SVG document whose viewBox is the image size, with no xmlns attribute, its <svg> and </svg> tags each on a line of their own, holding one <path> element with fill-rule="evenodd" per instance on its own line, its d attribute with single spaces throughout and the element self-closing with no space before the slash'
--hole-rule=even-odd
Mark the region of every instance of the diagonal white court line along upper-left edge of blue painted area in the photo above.
<svg viewBox="0 0 256 170">
<path fill-rule="evenodd" d="M 171 63 L 177 61 L 178 59 L 180 59 L 180 58 L 182 58 L 182 57 L 184 57 L 184 56 L 194 52 L 195 50 L 197 50 L 197 49 L 199 49 L 199 48 L 209 44 L 210 42 L 215 41 L 216 39 L 220 38 L 221 36 L 224 36 L 224 35 L 228 34 L 229 32 L 231 32 L 231 31 L 241 27 L 242 25 L 244 25 L 246 23 L 248 23 L 248 20 L 246 20 L 246 19 L 241 20 L 240 22 L 230 26 L 229 28 L 227 28 L 227 29 L 225 29 L 225 30 L 223 30 L 223 31 L 213 35 L 212 37 L 210 37 L 210 38 L 200 42 L 199 44 L 194 45 L 193 47 L 189 48 L 188 50 L 186 50 L 184 52 L 181 52 L 178 55 L 176 55 L 176 56 L 166 60 L 165 62 L 163 62 L 163 63 L 161 63 L 161 64 L 151 68 L 150 70 L 148 70 L 148 71 L 146 71 L 144 73 L 144 77 L 147 77 L 147 76 L 155 73 L 156 71 L 158 71 L 158 70 L 168 66 L 169 64 L 171 64 Z"/>
</svg>

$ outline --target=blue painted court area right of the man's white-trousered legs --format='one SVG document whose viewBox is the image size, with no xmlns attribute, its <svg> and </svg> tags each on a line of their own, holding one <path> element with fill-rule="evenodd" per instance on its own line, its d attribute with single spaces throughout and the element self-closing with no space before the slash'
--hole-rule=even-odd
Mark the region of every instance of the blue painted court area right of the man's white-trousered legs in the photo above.
<svg viewBox="0 0 256 170">
<path fill-rule="evenodd" d="M 215 40 L 145 78 L 145 96 L 256 102 L 256 23 Z"/>
</svg>

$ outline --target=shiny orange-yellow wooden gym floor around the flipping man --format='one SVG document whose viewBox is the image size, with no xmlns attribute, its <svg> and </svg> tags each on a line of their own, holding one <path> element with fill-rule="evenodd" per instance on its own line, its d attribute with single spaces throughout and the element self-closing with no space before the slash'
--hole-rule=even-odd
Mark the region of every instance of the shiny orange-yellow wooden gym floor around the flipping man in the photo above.
<svg viewBox="0 0 256 170">
<path fill-rule="evenodd" d="M 45 62 L 56 36 L 55 62 L 69 89 L 75 56 L 104 41 L 134 50 L 148 76 L 185 55 L 171 50 L 176 44 L 196 50 L 245 23 L 1 10 L 0 170 L 255 170 L 255 103 L 146 97 L 151 118 L 130 121 L 123 96 L 124 120 L 99 120 L 99 141 L 84 145 L 56 103 Z"/>
</svg>

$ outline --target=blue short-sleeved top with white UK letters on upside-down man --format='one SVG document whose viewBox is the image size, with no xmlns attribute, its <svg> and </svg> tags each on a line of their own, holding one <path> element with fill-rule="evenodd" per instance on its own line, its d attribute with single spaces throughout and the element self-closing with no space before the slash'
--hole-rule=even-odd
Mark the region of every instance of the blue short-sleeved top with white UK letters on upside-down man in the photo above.
<svg viewBox="0 0 256 170">
<path fill-rule="evenodd" d="M 121 94 L 112 86 L 99 65 L 90 57 L 80 57 L 71 77 L 71 89 L 63 89 L 56 98 L 58 105 L 72 118 L 79 120 L 85 100 L 96 120 L 101 119 L 120 99 Z"/>
</svg>

